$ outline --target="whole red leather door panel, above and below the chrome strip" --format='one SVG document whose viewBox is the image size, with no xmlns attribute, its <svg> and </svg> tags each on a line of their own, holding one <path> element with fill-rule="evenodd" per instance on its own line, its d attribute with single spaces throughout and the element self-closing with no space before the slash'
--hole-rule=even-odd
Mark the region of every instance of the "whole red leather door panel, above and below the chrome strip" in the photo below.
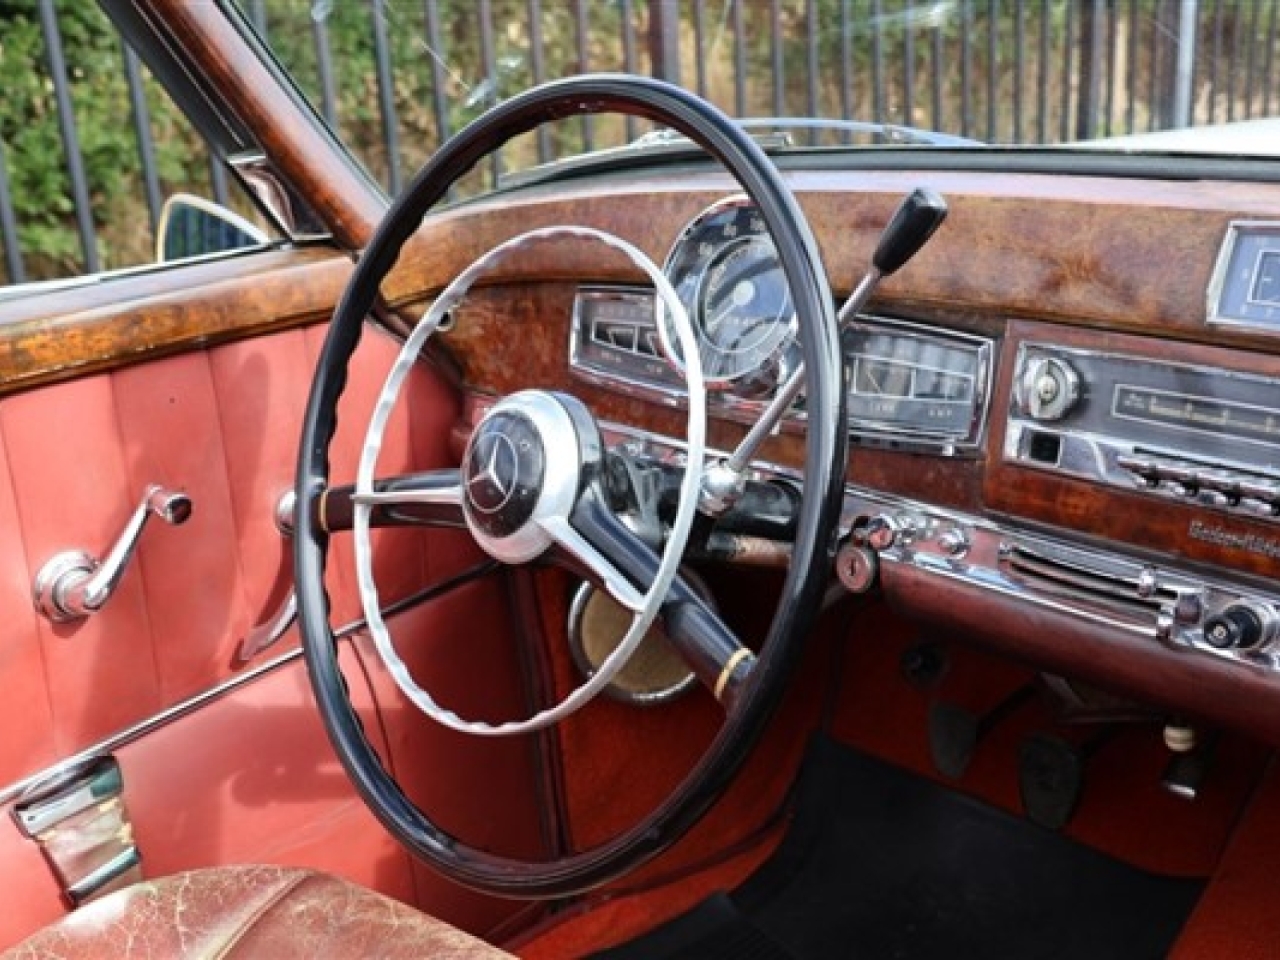
<svg viewBox="0 0 1280 960">
<path fill-rule="evenodd" d="M 321 326 L 279 332 L 0 397 L 0 609 L 8 634 L 0 644 L 0 788 L 246 669 L 234 659 L 241 639 L 274 612 L 292 580 L 274 513 L 292 485 L 323 337 Z M 376 330 L 365 337 L 335 438 L 335 481 L 353 479 L 397 348 Z M 453 392 L 419 370 L 387 431 L 380 472 L 448 463 L 457 411 Z M 69 625 L 36 614 L 31 584 L 41 564 L 68 548 L 101 556 L 152 483 L 191 495 L 189 521 L 152 521 L 97 614 Z M 358 618 L 360 603 L 349 538 L 333 543 L 329 586 L 333 621 L 342 625 Z M 474 544 L 454 532 L 375 535 L 384 602 L 476 558 Z M 474 616 L 477 604 L 484 617 Z M 451 620 L 471 625 L 467 645 L 480 660 L 454 659 L 461 650 L 447 635 L 425 636 L 449 622 L 426 611 L 394 627 L 415 652 L 411 659 L 495 716 L 525 713 L 517 666 L 500 653 L 508 628 L 500 591 L 471 590 L 448 608 Z M 477 646 L 481 623 L 486 635 Z M 296 644 L 291 632 L 270 655 Z M 422 787 L 445 819 L 484 831 L 497 849 L 536 850 L 527 745 L 471 751 L 434 728 L 424 733 L 426 721 L 406 710 L 376 668 L 355 659 L 348 666 L 366 730 L 381 737 L 366 680 L 370 671 L 376 677 L 398 774 Z M 148 876 L 265 860 L 333 870 L 406 900 L 425 896 L 420 902 L 433 913 L 472 929 L 518 909 L 415 874 L 333 758 L 301 662 L 201 704 L 116 756 Z M 476 791 L 486 803 L 472 803 Z M 485 812 L 479 826 L 476 809 Z M 35 845 L 6 818 L 0 888 L 17 891 L 6 892 L 0 910 L 0 943 L 63 909 Z"/>
</svg>

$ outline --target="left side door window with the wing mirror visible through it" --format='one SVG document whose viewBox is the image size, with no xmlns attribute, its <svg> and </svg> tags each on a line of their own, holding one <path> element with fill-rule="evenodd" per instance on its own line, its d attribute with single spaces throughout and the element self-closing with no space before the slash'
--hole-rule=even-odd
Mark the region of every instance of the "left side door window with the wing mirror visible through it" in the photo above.
<svg viewBox="0 0 1280 960">
<path fill-rule="evenodd" d="M 0 3 L 0 296 L 269 241 L 95 3 Z"/>
</svg>

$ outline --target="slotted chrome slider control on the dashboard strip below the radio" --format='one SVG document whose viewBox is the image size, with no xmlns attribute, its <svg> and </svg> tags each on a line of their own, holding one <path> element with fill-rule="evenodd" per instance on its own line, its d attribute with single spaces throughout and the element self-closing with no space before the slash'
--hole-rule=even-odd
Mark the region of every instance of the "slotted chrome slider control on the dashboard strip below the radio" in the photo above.
<svg viewBox="0 0 1280 960">
<path fill-rule="evenodd" d="M 1000 564 L 1010 580 L 1028 589 L 1138 623 L 1155 623 L 1161 607 L 1178 599 L 1153 571 L 1137 563 L 1110 563 L 1069 549 L 1006 544 Z"/>
</svg>

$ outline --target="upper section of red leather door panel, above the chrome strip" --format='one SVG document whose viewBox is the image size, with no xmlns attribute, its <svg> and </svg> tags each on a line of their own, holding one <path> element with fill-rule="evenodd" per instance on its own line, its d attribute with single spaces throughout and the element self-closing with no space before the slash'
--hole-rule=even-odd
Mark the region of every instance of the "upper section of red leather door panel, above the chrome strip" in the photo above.
<svg viewBox="0 0 1280 960">
<path fill-rule="evenodd" d="M 0 543 L 10 611 L 0 689 L 26 704 L 0 754 L 0 783 L 47 763 L 50 744 L 61 755 L 83 749 L 238 669 L 241 637 L 291 576 L 275 503 L 292 486 L 321 334 L 279 333 L 0 399 L 0 511 L 10 516 Z M 344 406 L 337 477 L 353 475 L 393 349 L 387 338 L 366 338 Z M 424 389 L 433 408 L 415 415 L 424 421 L 416 439 L 407 404 L 393 419 L 387 471 L 415 466 L 415 454 L 424 458 L 419 466 L 447 457 L 453 406 L 438 388 Z M 36 616 L 31 584 L 41 564 L 69 548 L 101 556 L 151 483 L 187 492 L 191 520 L 151 525 L 100 613 L 63 625 Z M 333 563 L 338 623 L 360 612 L 346 540 L 335 541 Z M 379 534 L 385 596 L 422 585 L 425 543 L 415 532 Z"/>
</svg>

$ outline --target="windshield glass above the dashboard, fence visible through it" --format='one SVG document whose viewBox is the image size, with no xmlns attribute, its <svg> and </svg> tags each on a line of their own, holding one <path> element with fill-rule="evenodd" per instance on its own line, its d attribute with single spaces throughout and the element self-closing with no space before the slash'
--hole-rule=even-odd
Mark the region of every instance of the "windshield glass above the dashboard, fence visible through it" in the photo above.
<svg viewBox="0 0 1280 960">
<path fill-rule="evenodd" d="M 1280 151 L 1280 0 L 241 1 L 393 192 L 486 106 L 594 70 L 662 77 L 737 118 L 788 118 L 759 125 L 785 127 L 772 142 L 797 148 Z M 477 177 L 645 132 L 566 122 Z"/>
</svg>

